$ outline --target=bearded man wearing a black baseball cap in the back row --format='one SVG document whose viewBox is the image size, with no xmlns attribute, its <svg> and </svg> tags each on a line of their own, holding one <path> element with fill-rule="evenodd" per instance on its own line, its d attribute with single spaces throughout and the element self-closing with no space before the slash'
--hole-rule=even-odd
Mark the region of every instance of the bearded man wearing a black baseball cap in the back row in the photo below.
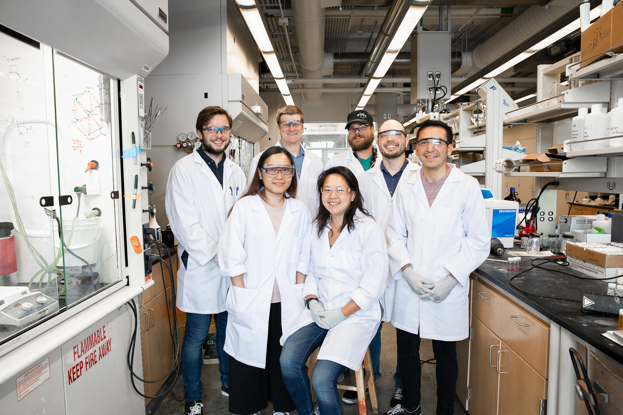
<svg viewBox="0 0 623 415">
<path fill-rule="evenodd" d="M 376 162 L 376 148 L 372 145 L 374 119 L 368 111 L 353 111 L 346 118 L 346 130 L 348 130 L 350 149 L 331 157 L 326 162 L 325 170 L 330 167 L 344 166 L 359 177 L 364 171 L 374 167 L 374 162 Z"/>
</svg>

